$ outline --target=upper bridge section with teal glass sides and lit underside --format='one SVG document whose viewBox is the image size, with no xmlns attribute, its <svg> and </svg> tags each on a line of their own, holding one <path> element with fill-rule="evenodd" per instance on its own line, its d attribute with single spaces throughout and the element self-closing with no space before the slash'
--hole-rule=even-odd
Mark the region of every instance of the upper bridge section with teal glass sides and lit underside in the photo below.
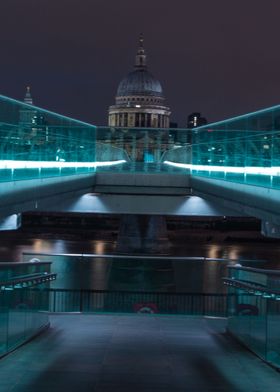
<svg viewBox="0 0 280 392">
<path fill-rule="evenodd" d="M 280 237 L 280 106 L 195 129 L 97 127 L 0 96 L 0 227 L 24 211 L 253 216 Z"/>
</svg>

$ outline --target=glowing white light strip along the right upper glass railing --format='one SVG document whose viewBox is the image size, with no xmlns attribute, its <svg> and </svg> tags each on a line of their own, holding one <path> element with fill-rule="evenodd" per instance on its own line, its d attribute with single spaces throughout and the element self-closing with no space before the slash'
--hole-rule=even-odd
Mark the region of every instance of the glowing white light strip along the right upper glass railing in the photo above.
<svg viewBox="0 0 280 392">
<path fill-rule="evenodd" d="M 267 176 L 280 176 L 280 166 L 274 167 L 256 167 L 256 166 L 213 166 L 213 165 L 193 165 L 188 163 L 176 163 L 164 161 L 166 165 L 179 167 L 182 169 L 189 169 L 192 171 L 207 171 L 207 172 L 224 172 L 224 173 L 238 173 L 238 174 L 257 174 Z"/>
</svg>

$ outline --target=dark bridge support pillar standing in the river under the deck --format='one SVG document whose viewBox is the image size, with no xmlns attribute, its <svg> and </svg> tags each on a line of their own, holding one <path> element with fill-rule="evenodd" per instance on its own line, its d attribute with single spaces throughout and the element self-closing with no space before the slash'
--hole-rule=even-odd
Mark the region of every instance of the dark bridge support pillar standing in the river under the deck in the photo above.
<svg viewBox="0 0 280 392">
<path fill-rule="evenodd" d="M 166 218 L 158 215 L 122 215 L 117 252 L 163 254 L 169 251 Z"/>
</svg>

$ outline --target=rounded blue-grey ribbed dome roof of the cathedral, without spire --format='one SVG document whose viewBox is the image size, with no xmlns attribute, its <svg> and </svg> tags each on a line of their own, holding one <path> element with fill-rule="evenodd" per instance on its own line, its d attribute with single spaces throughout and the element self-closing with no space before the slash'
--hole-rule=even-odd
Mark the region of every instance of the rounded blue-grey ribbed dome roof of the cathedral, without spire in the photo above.
<svg viewBox="0 0 280 392">
<path fill-rule="evenodd" d="M 163 97 L 163 91 L 160 82 L 145 68 L 140 68 L 130 72 L 119 84 L 117 96 L 130 95 Z"/>
</svg>

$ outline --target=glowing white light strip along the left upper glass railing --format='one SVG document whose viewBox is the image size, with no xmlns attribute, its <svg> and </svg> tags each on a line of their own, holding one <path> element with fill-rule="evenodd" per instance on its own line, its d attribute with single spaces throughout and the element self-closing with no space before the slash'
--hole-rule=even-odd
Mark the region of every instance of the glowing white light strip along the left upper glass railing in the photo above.
<svg viewBox="0 0 280 392">
<path fill-rule="evenodd" d="M 62 161 L 12 161 L 12 160 L 1 160 L 0 169 L 40 169 L 40 168 L 58 168 L 62 169 L 64 167 L 102 167 L 102 166 L 112 166 L 120 165 L 125 163 L 124 159 L 119 159 L 116 161 L 107 162 L 62 162 Z"/>
</svg>

